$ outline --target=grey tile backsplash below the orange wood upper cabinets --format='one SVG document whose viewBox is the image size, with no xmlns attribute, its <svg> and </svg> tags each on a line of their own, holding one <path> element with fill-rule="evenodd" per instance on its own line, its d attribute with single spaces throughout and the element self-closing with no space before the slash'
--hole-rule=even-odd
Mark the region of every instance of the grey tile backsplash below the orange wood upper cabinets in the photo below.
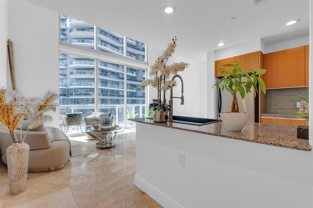
<svg viewBox="0 0 313 208">
<path fill-rule="evenodd" d="M 300 102 L 301 99 L 294 95 L 286 94 L 296 94 L 303 96 L 303 94 L 308 92 L 309 87 L 267 89 L 267 114 L 283 116 L 298 111 L 299 108 L 297 108 L 296 102 Z M 306 96 L 308 96 L 308 94 Z"/>
</svg>

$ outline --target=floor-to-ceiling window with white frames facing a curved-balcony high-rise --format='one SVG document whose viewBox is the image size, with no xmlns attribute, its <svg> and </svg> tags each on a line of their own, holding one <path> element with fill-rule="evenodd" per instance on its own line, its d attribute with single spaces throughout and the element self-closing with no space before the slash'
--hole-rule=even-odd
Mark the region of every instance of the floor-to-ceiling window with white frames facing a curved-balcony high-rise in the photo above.
<svg viewBox="0 0 313 208">
<path fill-rule="evenodd" d="M 110 112 L 129 127 L 128 118 L 145 114 L 146 92 L 137 89 L 146 79 L 146 44 L 60 15 L 59 57 L 60 115 Z"/>
</svg>

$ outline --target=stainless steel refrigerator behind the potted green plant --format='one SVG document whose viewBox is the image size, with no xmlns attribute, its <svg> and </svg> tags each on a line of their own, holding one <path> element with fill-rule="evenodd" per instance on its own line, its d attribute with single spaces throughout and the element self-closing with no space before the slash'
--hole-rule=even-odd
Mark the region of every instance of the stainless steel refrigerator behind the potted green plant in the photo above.
<svg viewBox="0 0 313 208">
<path fill-rule="evenodd" d="M 237 92 L 237 100 L 240 112 L 250 113 L 251 117 L 249 122 L 259 122 L 258 116 L 258 99 L 257 96 L 254 96 L 253 88 L 251 88 L 251 93 L 246 93 L 245 99 L 243 100 Z M 221 119 L 220 112 L 229 112 L 231 108 L 233 97 L 228 91 L 218 90 L 218 119 Z"/>
</svg>

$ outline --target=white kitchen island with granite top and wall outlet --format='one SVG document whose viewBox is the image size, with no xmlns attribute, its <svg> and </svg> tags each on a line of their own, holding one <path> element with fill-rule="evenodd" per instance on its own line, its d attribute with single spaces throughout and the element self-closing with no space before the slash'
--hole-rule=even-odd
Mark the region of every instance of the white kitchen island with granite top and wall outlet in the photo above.
<svg viewBox="0 0 313 208">
<path fill-rule="evenodd" d="M 164 207 L 313 207 L 313 151 L 295 126 L 131 120 L 134 183 Z"/>
</svg>

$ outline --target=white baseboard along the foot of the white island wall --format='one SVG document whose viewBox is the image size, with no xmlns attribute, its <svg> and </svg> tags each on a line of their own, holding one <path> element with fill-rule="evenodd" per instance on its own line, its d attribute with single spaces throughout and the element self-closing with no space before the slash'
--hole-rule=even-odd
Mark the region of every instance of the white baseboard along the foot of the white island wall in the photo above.
<svg viewBox="0 0 313 208">
<path fill-rule="evenodd" d="M 167 196 L 165 193 L 151 185 L 138 175 L 135 175 L 134 185 L 146 192 L 151 198 L 156 200 L 164 208 L 183 208 L 178 202 Z"/>
</svg>

